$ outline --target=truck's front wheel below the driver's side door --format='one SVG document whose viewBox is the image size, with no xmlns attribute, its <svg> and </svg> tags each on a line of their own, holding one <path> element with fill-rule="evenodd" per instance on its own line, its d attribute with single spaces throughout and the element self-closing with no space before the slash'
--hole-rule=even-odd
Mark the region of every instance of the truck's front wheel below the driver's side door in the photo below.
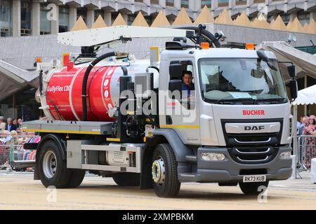
<svg viewBox="0 0 316 224">
<path fill-rule="evenodd" d="M 169 144 L 159 144 L 152 155 L 152 186 L 158 197 L 176 197 L 180 190 L 176 156 Z"/>
</svg>

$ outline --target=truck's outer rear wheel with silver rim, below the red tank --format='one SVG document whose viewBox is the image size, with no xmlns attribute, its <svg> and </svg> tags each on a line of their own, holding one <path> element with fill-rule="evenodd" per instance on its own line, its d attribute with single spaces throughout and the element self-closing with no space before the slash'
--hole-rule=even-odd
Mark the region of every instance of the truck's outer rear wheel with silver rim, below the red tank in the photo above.
<svg viewBox="0 0 316 224">
<path fill-rule="evenodd" d="M 62 160 L 62 149 L 54 141 L 46 141 L 39 151 L 39 178 L 46 188 L 67 188 L 72 172 Z"/>
</svg>

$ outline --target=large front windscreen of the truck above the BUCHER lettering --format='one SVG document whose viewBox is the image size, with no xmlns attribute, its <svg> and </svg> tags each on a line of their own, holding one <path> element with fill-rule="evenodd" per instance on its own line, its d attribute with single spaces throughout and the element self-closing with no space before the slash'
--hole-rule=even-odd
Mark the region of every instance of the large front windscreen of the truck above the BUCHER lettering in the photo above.
<svg viewBox="0 0 316 224">
<path fill-rule="evenodd" d="M 206 102 L 287 102 L 276 60 L 257 58 L 200 59 L 199 78 Z"/>
</svg>

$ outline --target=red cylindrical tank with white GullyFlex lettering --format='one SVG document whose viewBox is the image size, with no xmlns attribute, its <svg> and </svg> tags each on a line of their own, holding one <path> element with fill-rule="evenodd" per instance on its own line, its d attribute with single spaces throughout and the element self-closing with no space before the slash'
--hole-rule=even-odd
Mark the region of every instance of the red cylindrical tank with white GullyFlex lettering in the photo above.
<svg viewBox="0 0 316 224">
<path fill-rule="evenodd" d="M 144 73 L 147 62 L 128 66 L 129 76 Z M 81 120 L 81 88 L 87 65 L 71 69 L 67 67 L 50 73 L 46 85 L 44 110 L 53 120 Z M 107 114 L 109 108 L 118 106 L 120 66 L 94 66 L 87 83 L 87 120 L 112 121 Z"/>
</svg>

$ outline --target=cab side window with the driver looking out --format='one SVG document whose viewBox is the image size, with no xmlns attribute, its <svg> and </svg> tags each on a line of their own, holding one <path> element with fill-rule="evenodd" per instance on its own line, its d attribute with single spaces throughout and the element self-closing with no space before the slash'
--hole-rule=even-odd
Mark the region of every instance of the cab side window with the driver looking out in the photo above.
<svg viewBox="0 0 316 224">
<path fill-rule="evenodd" d="M 174 71 L 169 75 L 169 90 L 171 91 L 171 98 L 178 99 L 186 109 L 194 109 L 195 74 L 193 72 L 192 61 L 171 61 L 170 65 L 178 65 L 178 68 L 180 67 L 180 69 L 176 69 L 176 73 L 178 73 L 178 75 L 175 76 Z M 173 94 L 175 90 L 179 90 L 178 92 L 180 92 L 180 96 Z"/>
</svg>

